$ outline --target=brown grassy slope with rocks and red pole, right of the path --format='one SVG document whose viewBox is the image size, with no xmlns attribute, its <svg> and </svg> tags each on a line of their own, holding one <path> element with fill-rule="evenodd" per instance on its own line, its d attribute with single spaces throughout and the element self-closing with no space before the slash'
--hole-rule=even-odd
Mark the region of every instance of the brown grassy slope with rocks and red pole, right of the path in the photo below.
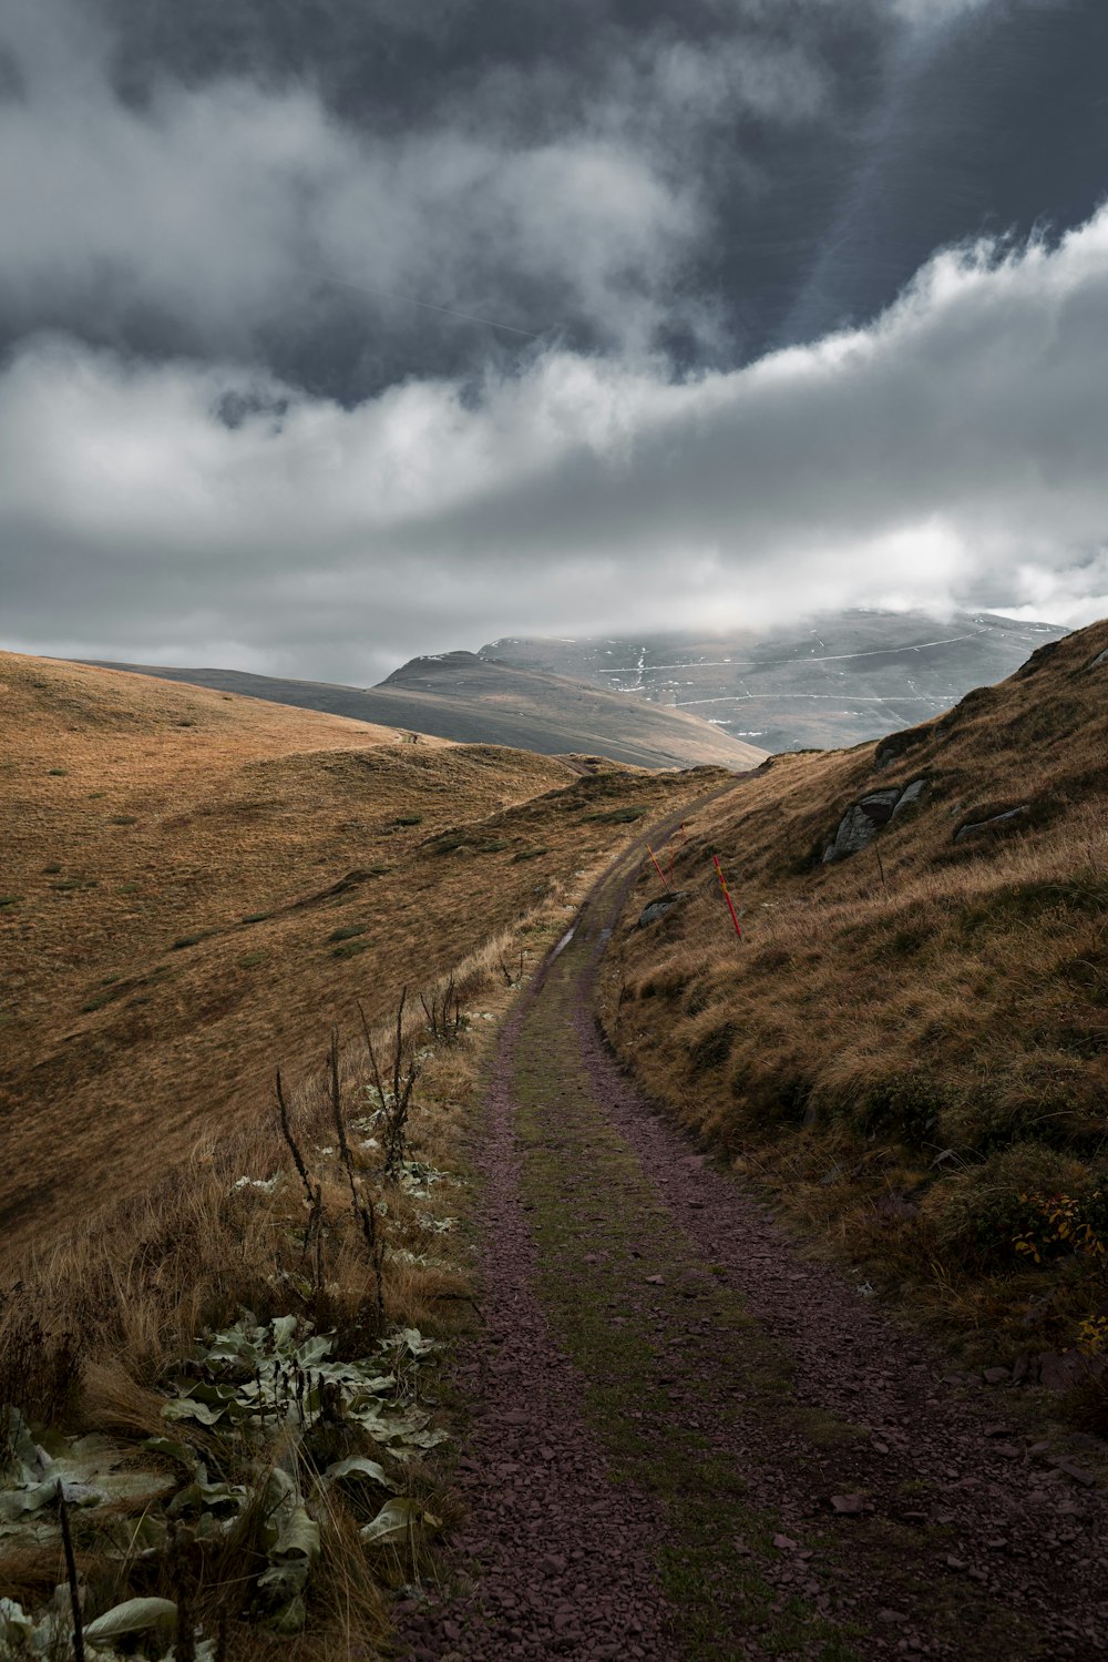
<svg viewBox="0 0 1108 1662">
<path fill-rule="evenodd" d="M 865 794 L 920 779 L 869 848 L 822 861 Z M 1106 786 L 1108 622 L 924 726 L 774 758 L 701 818 L 686 897 L 608 971 L 646 1085 L 985 1350 L 1108 1315 L 1103 1255 L 1048 1240 L 1035 1205 L 1066 1193 L 1108 1242 Z"/>
</svg>

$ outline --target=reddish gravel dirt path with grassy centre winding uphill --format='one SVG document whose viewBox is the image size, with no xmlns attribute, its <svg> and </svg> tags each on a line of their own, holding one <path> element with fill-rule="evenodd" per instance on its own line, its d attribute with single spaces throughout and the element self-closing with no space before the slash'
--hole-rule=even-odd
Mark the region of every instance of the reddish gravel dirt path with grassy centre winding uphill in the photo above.
<svg viewBox="0 0 1108 1662">
<path fill-rule="evenodd" d="M 1105 1494 L 801 1258 L 611 1062 L 591 986 L 638 858 L 502 1034 L 468 1519 L 414 1654 L 1108 1654 Z"/>
</svg>

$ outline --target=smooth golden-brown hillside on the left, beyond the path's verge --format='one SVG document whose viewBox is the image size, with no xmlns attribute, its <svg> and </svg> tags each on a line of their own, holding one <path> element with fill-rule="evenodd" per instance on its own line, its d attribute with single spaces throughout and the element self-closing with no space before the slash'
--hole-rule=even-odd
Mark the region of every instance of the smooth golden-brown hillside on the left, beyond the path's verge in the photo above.
<svg viewBox="0 0 1108 1662">
<path fill-rule="evenodd" d="M 679 776 L 0 656 L 0 1228 L 18 1253 L 249 1125 Z M 267 1112 L 267 1109 L 266 1109 Z"/>
</svg>

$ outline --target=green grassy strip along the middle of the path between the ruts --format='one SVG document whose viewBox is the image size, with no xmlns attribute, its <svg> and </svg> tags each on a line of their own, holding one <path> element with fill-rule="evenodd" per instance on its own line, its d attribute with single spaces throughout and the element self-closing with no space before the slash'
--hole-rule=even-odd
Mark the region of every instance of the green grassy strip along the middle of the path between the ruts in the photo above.
<svg viewBox="0 0 1108 1662">
<path fill-rule="evenodd" d="M 635 1153 L 598 1110 L 580 1059 L 565 1044 L 571 1002 L 560 996 L 560 982 L 571 986 L 555 974 L 525 1022 L 515 1075 L 538 1290 L 558 1341 L 585 1376 L 583 1411 L 613 1481 L 645 1491 L 666 1519 L 656 1574 L 679 1612 L 683 1655 L 714 1662 L 736 1654 L 738 1634 L 762 1629 L 767 1655 L 857 1662 L 849 1629 L 824 1620 L 801 1597 L 779 1597 L 764 1574 L 776 1557 L 779 1522 L 751 1506 L 733 1456 L 716 1453 L 704 1434 L 719 1413 L 718 1356 L 729 1360 L 729 1386 L 746 1401 L 723 1413 L 784 1418 L 796 1434 L 802 1421 L 792 1418 L 787 1358 L 738 1295 L 696 1260 Z M 553 1074 L 556 1117 L 548 1109 Z M 691 1311 L 711 1316 L 708 1358 L 698 1358 L 691 1343 Z M 822 1419 L 819 1446 L 827 1446 Z M 854 1441 L 859 1433 L 844 1428 L 842 1436 Z M 822 1539 L 811 1544 L 824 1547 Z"/>
</svg>

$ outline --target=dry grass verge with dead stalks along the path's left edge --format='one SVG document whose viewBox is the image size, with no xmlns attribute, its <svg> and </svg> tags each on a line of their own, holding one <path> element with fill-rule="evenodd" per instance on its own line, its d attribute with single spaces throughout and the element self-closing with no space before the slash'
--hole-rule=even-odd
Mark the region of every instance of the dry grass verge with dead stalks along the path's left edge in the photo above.
<svg viewBox="0 0 1108 1662">
<path fill-rule="evenodd" d="M 364 1039 L 351 1039 L 339 1055 L 341 1110 L 355 1177 L 374 1197 L 385 1238 L 385 1331 L 417 1326 L 445 1335 L 458 1320 L 472 1320 L 460 1232 L 442 1233 L 440 1227 L 467 1208 L 465 1177 L 457 1170 L 462 1130 L 473 1114 L 495 1015 L 518 992 L 522 954 L 525 967 L 533 964 L 565 927 L 565 904 L 560 892 L 547 894 L 513 929 L 485 939 L 455 967 L 452 984 L 467 1019 L 449 1039 L 429 1047 L 419 1004 L 404 1025 L 404 1054 L 420 1060 L 409 1153 L 439 1172 L 425 1193 L 387 1182 L 380 1147 L 362 1140 L 364 1115 L 374 1104 Z M 444 989 L 437 991 L 442 999 Z M 392 1024 L 374 1034 L 385 1072 L 394 1042 Z M 294 1433 L 274 1426 L 259 1451 L 256 1431 L 241 1441 L 226 1429 L 169 1428 L 163 1416 L 171 1381 L 196 1376 L 196 1358 L 204 1355 L 198 1341 L 244 1308 L 262 1323 L 296 1315 L 332 1333 L 336 1355 L 344 1360 L 365 1356 L 379 1338 L 375 1270 L 337 1158 L 326 1070 L 316 1070 L 292 1094 L 289 1114 L 309 1182 L 319 1187 L 319 1258 L 314 1248 L 306 1251 L 307 1202 L 276 1112 L 208 1140 L 188 1170 L 100 1210 L 83 1228 L 58 1233 L 25 1260 L 20 1286 L 0 1296 L 0 1433 L 7 1434 L 2 1408 L 13 1401 L 33 1418 L 40 1436 L 43 1426 L 55 1434 L 96 1433 L 111 1439 L 128 1466 L 146 1473 L 154 1468 L 153 1502 L 148 1481 L 133 1501 L 75 1514 L 86 1614 L 135 1596 L 178 1601 L 186 1587 L 189 1622 L 209 1637 L 223 1635 L 219 1655 L 243 1662 L 362 1655 L 369 1662 L 389 1645 L 389 1589 L 437 1574 L 434 1531 L 417 1517 L 402 1544 L 367 1546 L 359 1527 L 384 1496 L 374 1496 L 372 1486 L 365 1494 L 341 1492 L 319 1474 L 334 1459 L 369 1454 L 385 1461 L 405 1496 L 449 1526 L 457 1507 L 440 1476 L 419 1456 L 402 1464 L 351 1421 L 309 1421 Z M 272 1187 L 276 1173 L 281 1177 Z M 243 1187 L 243 1178 L 266 1187 Z M 429 1222 L 439 1228 L 429 1232 Z M 374 1371 L 380 1366 L 400 1373 L 402 1365 L 397 1356 Z M 405 1401 L 422 1399 L 417 1374 L 419 1365 L 407 1378 Z M 184 1479 L 176 1456 L 164 1458 L 159 1476 L 159 1456 L 143 1446 L 166 1433 L 184 1436 L 213 1479 L 248 1484 L 248 1499 L 228 1534 L 194 1527 L 186 1506 L 178 1536 L 166 1537 L 163 1507 Z M 321 1531 L 306 1622 L 289 1634 L 267 1630 L 264 1609 L 259 1612 L 257 1577 L 269 1564 L 262 1541 L 266 1473 L 274 1464 L 299 1474 Z M 126 1536 L 145 1529 L 145 1541 L 153 1531 L 154 1546 L 121 1556 L 120 1529 Z M 0 1596 L 40 1612 L 61 1574 L 56 1544 L 5 1541 Z"/>
</svg>

